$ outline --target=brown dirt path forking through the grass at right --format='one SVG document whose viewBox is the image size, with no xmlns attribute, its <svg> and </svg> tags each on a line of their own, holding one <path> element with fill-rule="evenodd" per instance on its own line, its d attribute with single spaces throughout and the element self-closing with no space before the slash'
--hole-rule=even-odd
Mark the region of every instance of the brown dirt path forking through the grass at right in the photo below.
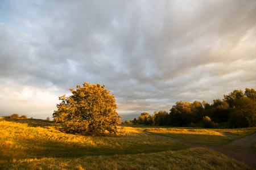
<svg viewBox="0 0 256 170">
<path fill-rule="evenodd" d="M 152 137 L 157 137 L 157 138 L 172 139 L 173 141 L 183 143 L 184 145 L 187 145 L 187 146 L 209 148 L 209 149 L 221 152 L 222 154 L 225 154 L 225 155 L 229 156 L 230 158 L 234 158 L 234 159 L 256 169 L 256 152 L 251 150 L 251 146 L 254 143 L 256 143 L 256 133 L 246 136 L 241 139 L 237 139 L 237 140 L 235 140 L 231 143 L 228 143 L 224 146 L 202 146 L 202 145 L 185 142 L 183 140 L 175 139 L 175 138 L 171 138 L 171 137 L 163 137 L 160 135 L 153 135 L 153 134 L 149 134 L 149 133 L 144 133 L 144 134 L 150 135 Z"/>
</svg>

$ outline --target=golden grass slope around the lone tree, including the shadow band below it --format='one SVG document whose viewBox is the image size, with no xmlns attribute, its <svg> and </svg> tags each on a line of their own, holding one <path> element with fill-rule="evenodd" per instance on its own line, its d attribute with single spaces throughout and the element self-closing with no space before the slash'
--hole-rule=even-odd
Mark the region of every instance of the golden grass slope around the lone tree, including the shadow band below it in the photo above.
<svg viewBox="0 0 256 170">
<path fill-rule="evenodd" d="M 0 121 L 0 147 L 5 148 L 1 159 L 76 157 L 80 155 L 113 155 L 134 154 L 139 152 L 155 152 L 179 150 L 186 146 L 170 140 L 160 141 L 139 133 L 134 128 L 120 128 L 119 135 L 114 137 L 91 137 L 66 134 L 49 123 L 42 127 L 11 121 Z M 142 137 L 143 136 L 143 137 Z M 147 146 L 147 147 L 145 147 Z M 148 147 L 151 149 L 148 150 Z M 18 151 L 18 152 L 17 152 Z"/>
</svg>

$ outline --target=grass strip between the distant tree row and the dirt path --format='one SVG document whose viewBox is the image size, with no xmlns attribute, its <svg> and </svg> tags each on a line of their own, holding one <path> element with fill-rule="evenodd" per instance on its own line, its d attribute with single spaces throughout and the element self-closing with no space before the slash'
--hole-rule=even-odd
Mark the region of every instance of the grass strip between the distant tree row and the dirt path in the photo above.
<svg viewBox="0 0 256 170">
<path fill-rule="evenodd" d="M 145 132 L 176 139 L 199 145 L 224 145 L 234 139 L 253 134 L 256 128 L 243 129 L 192 129 L 192 128 L 146 128 Z"/>
</svg>

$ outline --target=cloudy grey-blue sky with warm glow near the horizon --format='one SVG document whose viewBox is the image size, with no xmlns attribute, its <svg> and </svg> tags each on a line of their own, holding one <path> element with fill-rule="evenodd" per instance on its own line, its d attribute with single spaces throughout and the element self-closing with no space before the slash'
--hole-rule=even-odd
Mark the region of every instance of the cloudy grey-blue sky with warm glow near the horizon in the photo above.
<svg viewBox="0 0 256 170">
<path fill-rule="evenodd" d="M 256 1 L 0 1 L 0 116 L 105 84 L 122 120 L 256 89 Z"/>
</svg>

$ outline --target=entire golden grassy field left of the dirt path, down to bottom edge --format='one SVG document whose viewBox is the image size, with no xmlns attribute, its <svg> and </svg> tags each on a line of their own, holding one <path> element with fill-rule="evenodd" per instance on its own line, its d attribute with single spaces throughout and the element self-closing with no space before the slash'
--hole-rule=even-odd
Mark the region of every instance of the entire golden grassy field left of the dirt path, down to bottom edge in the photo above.
<svg viewBox="0 0 256 170">
<path fill-rule="evenodd" d="M 250 169 L 218 152 L 143 130 L 120 126 L 112 137 L 84 137 L 65 134 L 51 121 L 0 118 L 0 169 Z"/>
</svg>

